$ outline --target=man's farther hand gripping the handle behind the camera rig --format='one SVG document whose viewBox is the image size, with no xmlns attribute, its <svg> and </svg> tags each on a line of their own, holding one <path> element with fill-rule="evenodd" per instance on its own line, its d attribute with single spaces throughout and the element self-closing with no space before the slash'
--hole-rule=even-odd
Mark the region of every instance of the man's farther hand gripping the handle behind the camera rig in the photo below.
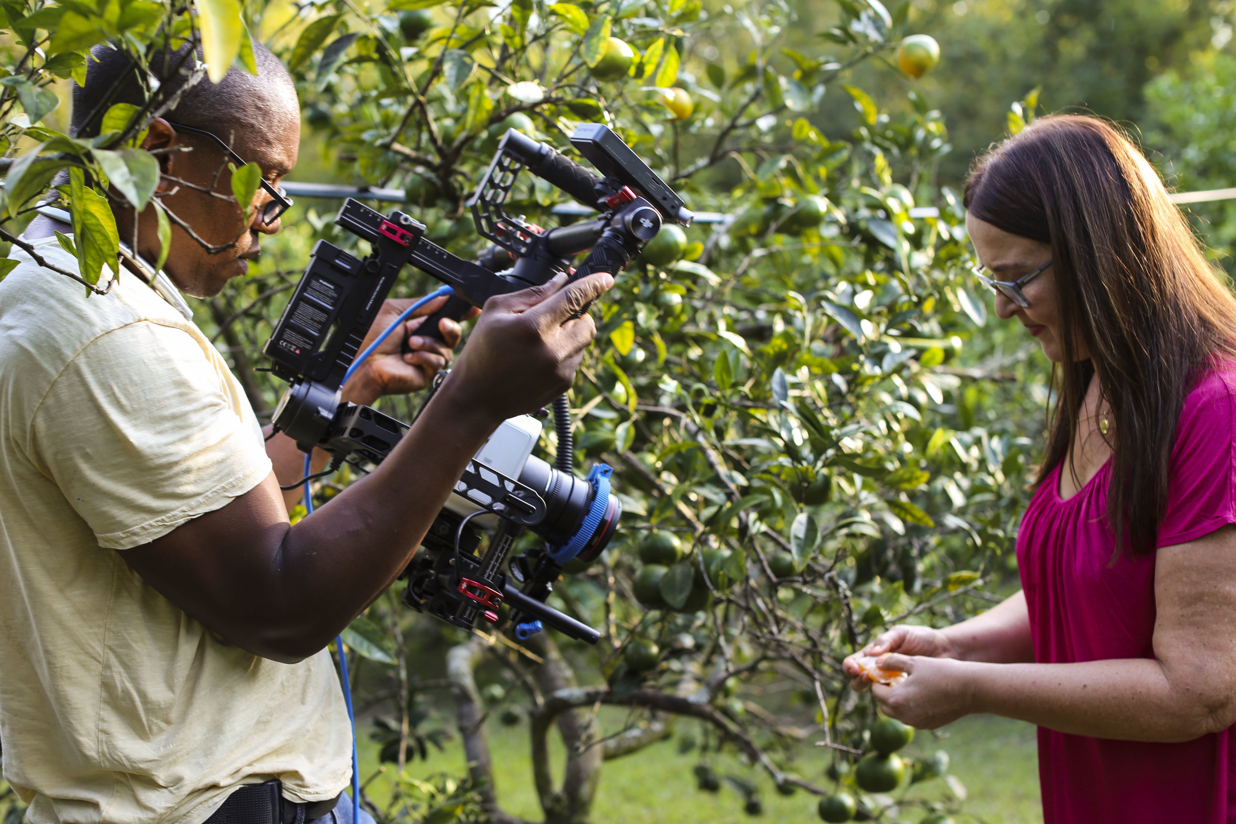
<svg viewBox="0 0 1236 824">
<path fill-rule="evenodd" d="M 392 298 L 384 301 L 365 335 L 361 351 L 363 352 L 365 347 L 413 303 L 410 298 Z M 457 322 L 444 317 L 439 322 L 439 329 L 446 338 L 445 342 L 428 335 L 417 335 L 425 316 L 441 309 L 444 303 L 446 298 L 429 301 L 403 322 L 403 329 L 391 332 L 389 337 L 382 341 L 373 355 L 352 374 L 344 387 L 344 399 L 370 405 L 382 395 L 405 395 L 428 387 L 434 374 L 451 362 L 452 350 L 459 346 L 462 334 Z M 475 317 L 477 311 L 480 310 L 473 309 L 467 317 Z M 403 352 L 404 341 L 408 341 L 410 352 Z"/>
</svg>

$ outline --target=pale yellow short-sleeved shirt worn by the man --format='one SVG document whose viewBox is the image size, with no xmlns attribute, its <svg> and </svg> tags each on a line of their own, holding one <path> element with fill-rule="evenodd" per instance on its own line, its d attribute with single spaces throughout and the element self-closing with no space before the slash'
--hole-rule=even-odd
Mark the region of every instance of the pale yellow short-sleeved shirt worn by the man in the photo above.
<svg viewBox="0 0 1236 824">
<path fill-rule="evenodd" d="M 35 246 L 77 271 L 54 238 Z M 198 824 L 272 777 L 293 801 L 332 798 L 351 776 L 351 730 L 330 655 L 289 666 L 222 644 L 120 555 L 271 472 L 240 384 L 129 272 L 88 299 L 12 257 L 0 282 L 0 745 L 27 820 Z"/>
</svg>

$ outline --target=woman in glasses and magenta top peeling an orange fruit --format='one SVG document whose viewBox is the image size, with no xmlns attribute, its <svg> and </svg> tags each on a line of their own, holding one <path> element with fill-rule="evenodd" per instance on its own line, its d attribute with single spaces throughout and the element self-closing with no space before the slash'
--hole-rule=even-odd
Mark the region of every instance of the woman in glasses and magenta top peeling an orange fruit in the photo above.
<svg viewBox="0 0 1236 824">
<path fill-rule="evenodd" d="M 967 229 L 1053 363 L 1022 591 L 863 652 L 885 714 L 1039 726 L 1047 824 L 1236 822 L 1236 299 L 1138 149 L 1043 117 L 973 168 Z M 855 688 L 871 686 L 854 661 Z"/>
</svg>

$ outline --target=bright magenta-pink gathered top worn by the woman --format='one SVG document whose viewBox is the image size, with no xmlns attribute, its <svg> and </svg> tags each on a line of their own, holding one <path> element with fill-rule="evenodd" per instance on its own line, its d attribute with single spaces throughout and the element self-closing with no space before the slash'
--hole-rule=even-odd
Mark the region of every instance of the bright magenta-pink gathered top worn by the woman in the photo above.
<svg viewBox="0 0 1236 824">
<path fill-rule="evenodd" d="M 1236 523 L 1236 364 L 1194 385 L 1177 426 L 1172 486 L 1158 546 Z M 1106 526 L 1109 462 L 1068 500 L 1057 468 L 1036 490 L 1017 534 L 1035 660 L 1152 658 L 1154 556 L 1122 553 Z M 1046 824 L 1236 824 L 1230 728 L 1184 744 L 1142 744 L 1039 728 Z"/>
</svg>

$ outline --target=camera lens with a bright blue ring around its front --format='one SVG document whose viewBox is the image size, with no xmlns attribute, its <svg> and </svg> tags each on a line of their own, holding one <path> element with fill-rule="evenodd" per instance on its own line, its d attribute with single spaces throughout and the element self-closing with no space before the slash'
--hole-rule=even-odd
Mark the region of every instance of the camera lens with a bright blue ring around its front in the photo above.
<svg viewBox="0 0 1236 824">
<path fill-rule="evenodd" d="M 593 484 L 555 469 L 538 457 L 528 458 L 519 483 L 531 487 L 545 500 L 545 520 L 530 529 L 551 546 L 565 547 L 581 529 L 588 529 L 590 534 L 581 536 L 582 547 L 574 557 L 590 562 L 609 545 L 609 539 L 618 529 L 618 519 L 622 518 L 622 503 L 613 493 L 606 500 L 597 502 Z M 593 511 L 599 513 L 599 521 L 588 518 Z"/>
</svg>

